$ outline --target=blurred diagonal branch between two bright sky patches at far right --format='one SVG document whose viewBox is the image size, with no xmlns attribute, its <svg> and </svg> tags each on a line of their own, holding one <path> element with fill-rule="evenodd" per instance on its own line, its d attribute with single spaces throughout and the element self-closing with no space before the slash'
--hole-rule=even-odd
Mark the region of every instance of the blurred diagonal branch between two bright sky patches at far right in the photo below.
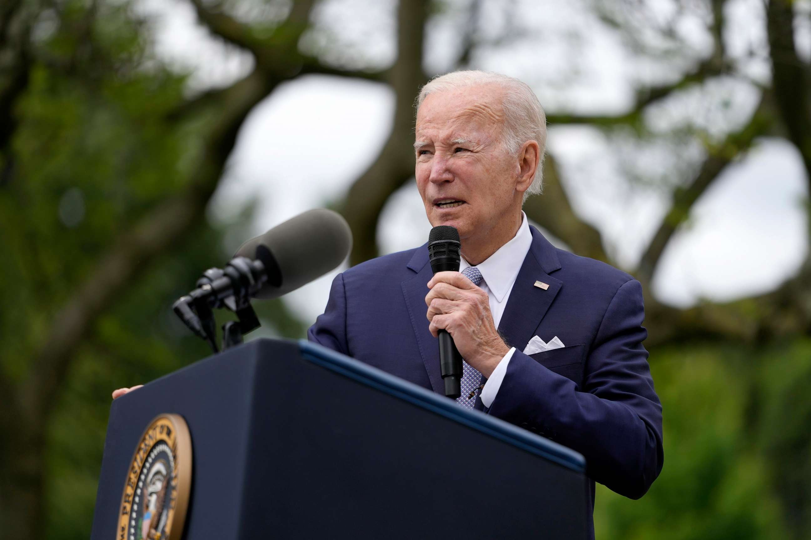
<svg viewBox="0 0 811 540">
<path fill-rule="evenodd" d="M 719 177 L 721 172 L 732 163 L 734 159 L 739 159 L 752 146 L 754 139 L 765 134 L 770 127 L 770 115 L 764 110 L 764 102 L 757 108 L 749 123 L 736 133 L 727 135 L 718 146 L 707 149 L 708 155 L 702 167 L 690 185 L 676 189 L 673 194 L 673 204 L 670 211 L 659 225 L 659 230 L 654 234 L 642 259 L 637 267 L 637 278 L 642 283 L 650 283 L 653 278 L 659 259 L 662 257 L 667 244 L 680 225 L 686 221 L 690 215 L 690 210 L 695 202 L 706 192 L 706 189 Z"/>
</svg>

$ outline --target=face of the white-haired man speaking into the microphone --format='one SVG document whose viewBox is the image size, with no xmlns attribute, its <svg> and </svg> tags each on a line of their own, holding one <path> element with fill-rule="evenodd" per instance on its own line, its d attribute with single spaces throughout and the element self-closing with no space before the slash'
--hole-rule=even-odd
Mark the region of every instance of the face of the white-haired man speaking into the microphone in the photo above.
<svg viewBox="0 0 811 540">
<path fill-rule="evenodd" d="M 512 223 L 517 159 L 504 150 L 501 89 L 493 85 L 429 94 L 417 113 L 417 188 L 432 227 L 461 239 Z"/>
</svg>

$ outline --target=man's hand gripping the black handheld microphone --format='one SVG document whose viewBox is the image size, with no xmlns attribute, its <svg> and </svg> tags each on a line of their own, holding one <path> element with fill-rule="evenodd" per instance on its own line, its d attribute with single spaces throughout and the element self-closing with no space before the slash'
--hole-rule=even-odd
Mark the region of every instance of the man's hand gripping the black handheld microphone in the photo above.
<svg viewBox="0 0 811 540">
<path fill-rule="evenodd" d="M 428 288 L 428 330 L 435 338 L 448 330 L 462 358 L 489 377 L 509 347 L 493 323 L 487 293 L 459 272 L 434 274 Z"/>
</svg>

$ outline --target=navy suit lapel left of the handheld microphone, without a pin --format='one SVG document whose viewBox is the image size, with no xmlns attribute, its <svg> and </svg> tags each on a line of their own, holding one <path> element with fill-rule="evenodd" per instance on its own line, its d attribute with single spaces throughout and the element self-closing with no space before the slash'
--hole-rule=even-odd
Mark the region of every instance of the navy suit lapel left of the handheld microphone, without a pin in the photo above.
<svg viewBox="0 0 811 540">
<path fill-rule="evenodd" d="M 444 394 L 445 386 L 440 373 L 440 345 L 428 331 L 428 320 L 425 318 L 428 310 L 425 305 L 425 296 L 428 294 L 428 282 L 433 276 L 431 265 L 428 264 L 428 250 L 425 246 L 416 250 L 408 267 L 417 274 L 401 283 L 405 305 L 409 311 L 411 325 L 414 326 L 419 353 L 423 356 L 431 388 L 434 392 Z"/>
</svg>

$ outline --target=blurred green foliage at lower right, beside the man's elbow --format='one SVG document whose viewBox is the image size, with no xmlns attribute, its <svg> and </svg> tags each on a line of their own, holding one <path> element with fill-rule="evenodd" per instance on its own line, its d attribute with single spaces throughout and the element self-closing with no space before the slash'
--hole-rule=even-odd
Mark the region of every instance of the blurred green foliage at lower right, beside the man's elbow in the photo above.
<svg viewBox="0 0 811 540">
<path fill-rule="evenodd" d="M 665 466 L 642 500 L 598 487 L 597 538 L 792 538 L 786 516 L 808 517 L 809 358 L 807 338 L 651 351 Z"/>
</svg>

